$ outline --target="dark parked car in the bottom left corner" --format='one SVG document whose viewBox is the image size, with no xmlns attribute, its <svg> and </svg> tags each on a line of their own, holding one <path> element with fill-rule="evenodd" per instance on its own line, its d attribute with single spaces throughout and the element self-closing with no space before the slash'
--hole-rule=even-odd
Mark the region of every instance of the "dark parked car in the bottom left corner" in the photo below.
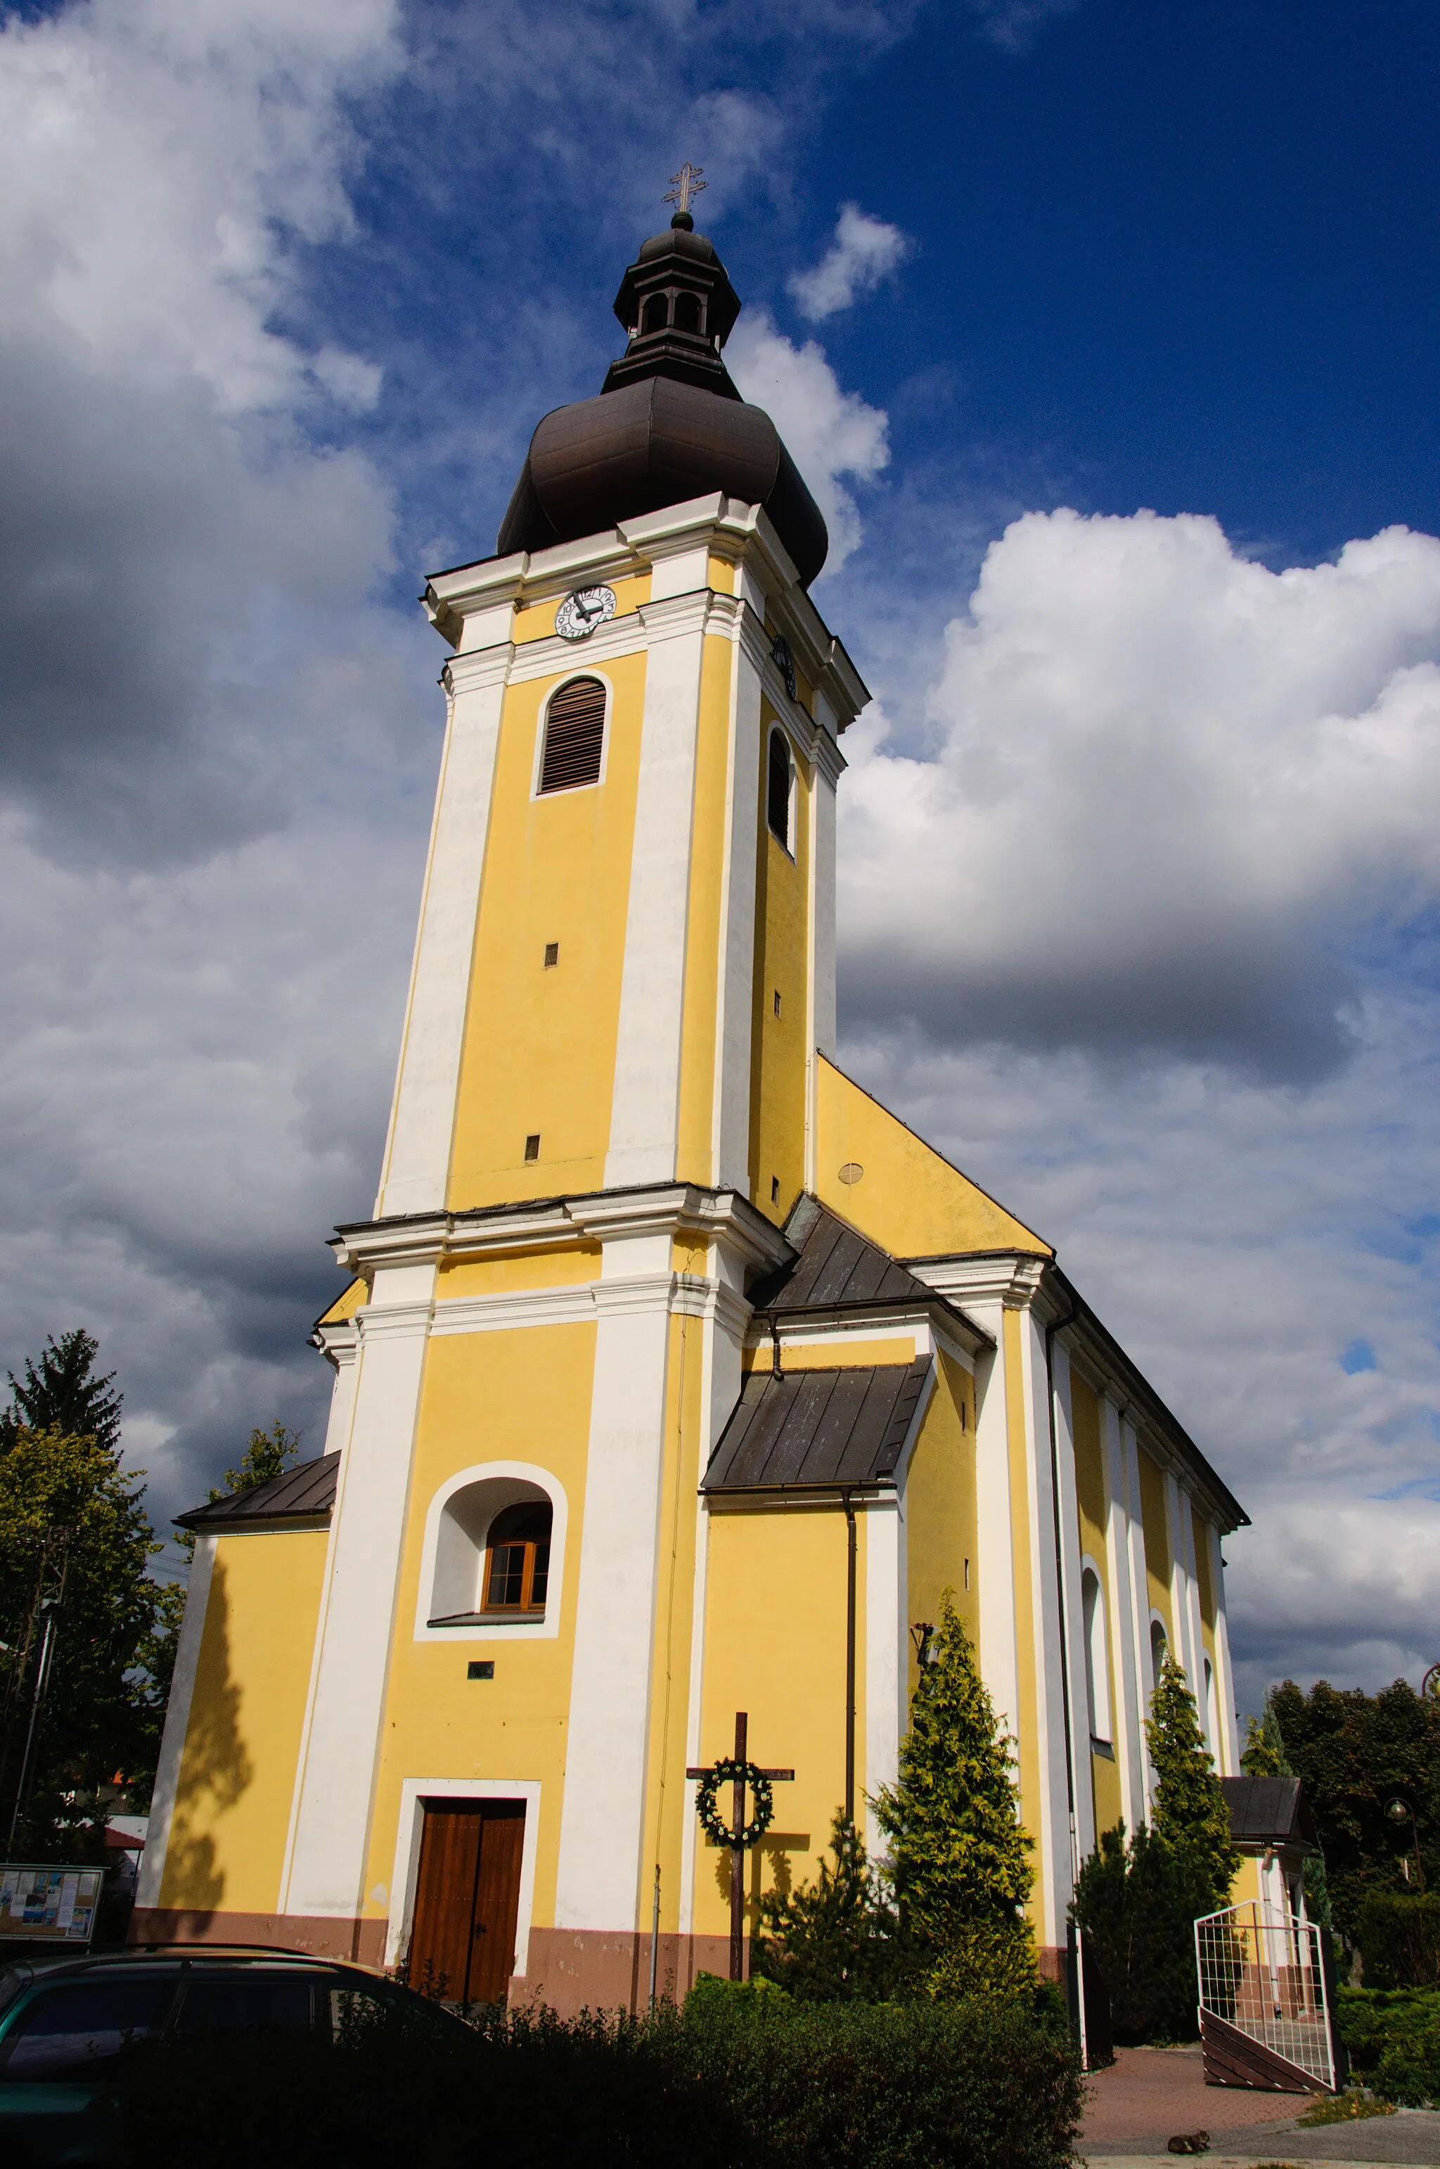
<svg viewBox="0 0 1440 2169">
<path fill-rule="evenodd" d="M 304 2032 L 334 2041 L 353 2013 L 462 2019 L 358 1965 L 306 1952 L 165 1946 L 37 1959 L 0 1974 L 0 2162 L 124 2162 L 119 2091 L 139 2043 Z"/>
</svg>

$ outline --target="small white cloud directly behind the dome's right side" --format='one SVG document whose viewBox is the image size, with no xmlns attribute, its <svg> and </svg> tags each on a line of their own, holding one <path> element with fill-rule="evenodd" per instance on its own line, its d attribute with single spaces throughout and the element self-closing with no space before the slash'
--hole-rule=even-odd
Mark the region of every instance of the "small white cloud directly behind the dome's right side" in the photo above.
<svg viewBox="0 0 1440 2169">
<path fill-rule="evenodd" d="M 724 349 L 735 384 L 761 406 L 785 438 L 831 529 L 826 570 L 846 562 L 861 538 L 854 499 L 839 482 L 872 482 L 889 464 L 889 432 L 880 408 L 841 390 L 824 347 L 794 347 L 763 308 L 746 310 Z"/>
</svg>

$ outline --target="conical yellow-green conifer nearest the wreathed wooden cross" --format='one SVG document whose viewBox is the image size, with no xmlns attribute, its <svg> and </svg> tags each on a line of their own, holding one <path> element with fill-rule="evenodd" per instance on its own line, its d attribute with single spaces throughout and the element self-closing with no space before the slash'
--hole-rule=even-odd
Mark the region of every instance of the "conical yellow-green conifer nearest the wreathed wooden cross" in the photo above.
<svg viewBox="0 0 1440 2169">
<path fill-rule="evenodd" d="M 1006 1985 L 1034 1963 L 1024 1917 L 1030 1837 L 1017 1813 L 1013 1746 L 946 1590 L 911 1696 L 900 1772 L 893 1787 L 880 1787 L 874 1811 L 891 1846 L 902 1935 L 930 1967 L 943 1965 L 954 1989 L 991 1985 L 987 1967 L 1000 1952 Z"/>
</svg>

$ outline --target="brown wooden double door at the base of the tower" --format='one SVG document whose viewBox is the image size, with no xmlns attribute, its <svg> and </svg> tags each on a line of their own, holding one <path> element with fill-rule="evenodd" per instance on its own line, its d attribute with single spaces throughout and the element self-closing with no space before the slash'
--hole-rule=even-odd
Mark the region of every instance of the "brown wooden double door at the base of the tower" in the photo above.
<svg viewBox="0 0 1440 2169">
<path fill-rule="evenodd" d="M 501 2004 L 514 1972 L 525 1800 L 423 1800 L 410 1987 Z"/>
</svg>

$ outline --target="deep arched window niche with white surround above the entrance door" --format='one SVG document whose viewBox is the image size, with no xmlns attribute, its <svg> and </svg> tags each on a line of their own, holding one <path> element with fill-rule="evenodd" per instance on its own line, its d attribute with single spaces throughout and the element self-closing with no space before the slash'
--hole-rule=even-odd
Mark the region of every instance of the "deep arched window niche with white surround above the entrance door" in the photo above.
<svg viewBox="0 0 1440 2169">
<path fill-rule="evenodd" d="M 416 1633 L 544 1631 L 560 1594 L 564 1492 L 520 1462 L 490 1462 L 451 1481 L 429 1510 Z M 551 1557 L 553 1555 L 553 1557 Z"/>
</svg>

